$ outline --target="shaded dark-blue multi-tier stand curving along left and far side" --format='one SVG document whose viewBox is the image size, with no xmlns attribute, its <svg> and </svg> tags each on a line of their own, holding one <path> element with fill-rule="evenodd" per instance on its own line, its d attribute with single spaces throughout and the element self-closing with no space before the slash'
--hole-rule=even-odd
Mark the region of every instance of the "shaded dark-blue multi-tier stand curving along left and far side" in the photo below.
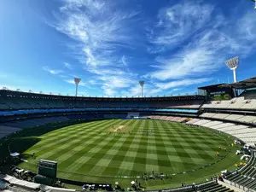
<svg viewBox="0 0 256 192">
<path fill-rule="evenodd" d="M 0 90 L 0 137 L 39 125 L 76 119 L 138 118 L 139 112 L 196 116 L 204 96 L 104 98 L 52 96 Z M 98 113 L 96 113 L 98 111 Z M 175 117 L 173 117 L 175 118 Z M 182 122 L 186 118 L 173 121 Z"/>
</svg>

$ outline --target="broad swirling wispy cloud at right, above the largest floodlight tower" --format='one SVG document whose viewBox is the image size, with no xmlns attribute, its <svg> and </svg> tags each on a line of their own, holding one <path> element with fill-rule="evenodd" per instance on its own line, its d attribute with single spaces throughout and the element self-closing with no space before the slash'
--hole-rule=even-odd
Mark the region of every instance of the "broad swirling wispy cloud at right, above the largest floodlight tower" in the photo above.
<svg viewBox="0 0 256 192">
<path fill-rule="evenodd" d="M 252 54 L 256 47 L 254 15 L 249 12 L 229 20 L 209 4 L 192 2 L 160 10 L 158 25 L 148 32 L 154 44 L 148 51 L 158 53 L 157 64 L 151 65 L 154 71 L 145 77 L 199 78 L 225 67 L 224 61 L 235 55 Z M 170 54 L 172 48 L 176 49 Z"/>
</svg>

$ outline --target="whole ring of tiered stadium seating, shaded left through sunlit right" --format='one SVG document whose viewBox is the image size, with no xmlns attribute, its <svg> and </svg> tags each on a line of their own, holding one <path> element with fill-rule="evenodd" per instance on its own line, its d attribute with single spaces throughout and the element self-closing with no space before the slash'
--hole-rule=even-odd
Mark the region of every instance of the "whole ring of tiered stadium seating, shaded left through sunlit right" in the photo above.
<svg viewBox="0 0 256 192">
<path fill-rule="evenodd" d="M 0 138 L 26 128 L 73 120 L 143 118 L 207 127 L 252 146 L 256 143 L 256 90 L 245 90 L 228 100 L 206 99 L 206 96 L 74 97 L 0 90 Z M 255 165 L 253 154 L 248 165 L 227 174 L 226 181 L 256 189 Z M 200 191 L 233 191 L 212 181 L 162 191 L 195 191 L 195 187 Z"/>
</svg>

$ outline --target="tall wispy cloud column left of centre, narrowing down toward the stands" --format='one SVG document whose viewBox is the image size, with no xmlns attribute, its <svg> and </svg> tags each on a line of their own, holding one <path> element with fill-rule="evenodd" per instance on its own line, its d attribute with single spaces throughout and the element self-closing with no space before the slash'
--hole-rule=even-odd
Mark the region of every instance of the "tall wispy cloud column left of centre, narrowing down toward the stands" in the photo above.
<svg viewBox="0 0 256 192">
<path fill-rule="evenodd" d="M 138 12 L 119 9 L 117 4 L 119 2 L 102 0 L 65 0 L 55 13 L 56 24 L 52 25 L 73 39 L 67 46 L 84 64 L 84 70 L 92 73 L 92 84 L 102 84 L 107 95 L 127 88 L 130 79 L 136 76 L 126 68 L 127 57 L 120 56 L 119 51 L 134 46 L 131 23 L 137 20 Z"/>
</svg>

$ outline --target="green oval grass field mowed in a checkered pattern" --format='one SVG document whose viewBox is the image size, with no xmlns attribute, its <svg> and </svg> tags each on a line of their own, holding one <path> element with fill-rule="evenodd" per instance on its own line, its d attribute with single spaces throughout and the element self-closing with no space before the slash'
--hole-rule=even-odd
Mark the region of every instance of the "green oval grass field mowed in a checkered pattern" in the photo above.
<svg viewBox="0 0 256 192">
<path fill-rule="evenodd" d="M 37 172 L 38 160 L 58 161 L 57 177 L 129 185 L 144 173 L 173 174 L 143 181 L 149 189 L 201 182 L 238 161 L 233 139 L 208 129 L 151 119 L 107 119 L 50 131 L 23 154 L 19 166 Z M 216 155 L 219 152 L 220 157 Z M 31 154 L 35 153 L 36 158 Z M 221 156 L 227 155 L 224 160 Z M 214 164 L 217 160 L 216 164 Z M 212 166 L 207 166 L 212 164 Z M 202 166 L 207 166 L 202 168 Z M 182 173 L 182 174 L 178 174 Z M 175 175 L 174 175 L 175 174 Z M 150 187 L 154 186 L 154 187 Z M 157 187 L 158 186 L 158 187 Z"/>
</svg>

